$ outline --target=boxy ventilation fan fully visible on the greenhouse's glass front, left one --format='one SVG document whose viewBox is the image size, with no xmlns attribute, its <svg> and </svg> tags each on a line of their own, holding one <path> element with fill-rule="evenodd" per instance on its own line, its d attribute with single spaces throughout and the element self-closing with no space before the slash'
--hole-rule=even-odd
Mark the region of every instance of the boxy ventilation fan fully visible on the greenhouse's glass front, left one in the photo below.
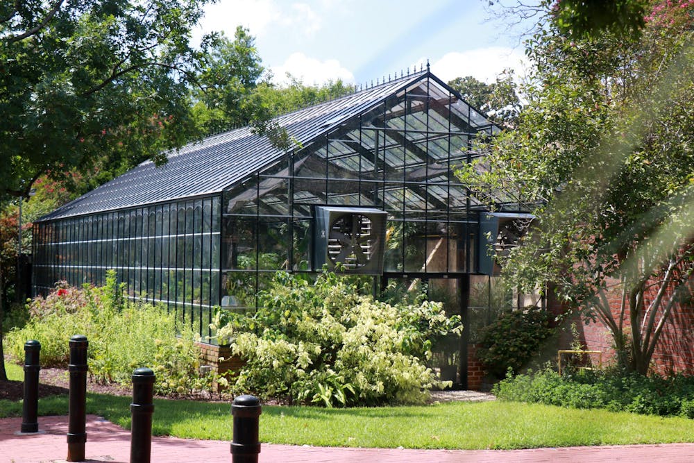
<svg viewBox="0 0 694 463">
<path fill-rule="evenodd" d="M 373 208 L 316 206 L 313 268 L 340 264 L 344 273 L 382 274 L 387 217 Z"/>
</svg>

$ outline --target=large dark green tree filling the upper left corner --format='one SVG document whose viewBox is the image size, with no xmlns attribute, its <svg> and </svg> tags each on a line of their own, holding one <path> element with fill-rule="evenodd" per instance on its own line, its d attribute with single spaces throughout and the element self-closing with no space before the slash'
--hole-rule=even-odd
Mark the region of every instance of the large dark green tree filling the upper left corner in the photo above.
<svg viewBox="0 0 694 463">
<path fill-rule="evenodd" d="M 207 2 L 3 2 L 0 197 L 103 159 L 163 162 L 187 142 L 199 58 L 189 37 Z"/>
</svg>

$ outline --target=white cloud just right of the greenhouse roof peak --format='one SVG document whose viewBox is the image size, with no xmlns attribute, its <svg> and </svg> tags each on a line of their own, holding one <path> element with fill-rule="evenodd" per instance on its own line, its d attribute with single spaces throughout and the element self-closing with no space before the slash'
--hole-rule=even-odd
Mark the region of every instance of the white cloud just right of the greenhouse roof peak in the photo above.
<svg viewBox="0 0 694 463">
<path fill-rule="evenodd" d="M 514 69 L 516 78 L 525 75 L 527 60 L 520 51 L 505 47 L 489 47 L 463 52 L 446 53 L 432 63 L 431 70 L 442 81 L 473 76 L 478 81 L 493 83 L 504 69 Z"/>
</svg>

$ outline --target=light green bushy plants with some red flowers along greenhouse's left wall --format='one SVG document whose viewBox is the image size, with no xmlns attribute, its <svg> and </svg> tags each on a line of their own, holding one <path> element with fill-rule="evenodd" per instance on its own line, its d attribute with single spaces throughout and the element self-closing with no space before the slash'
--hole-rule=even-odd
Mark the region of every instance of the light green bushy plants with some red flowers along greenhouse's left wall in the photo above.
<svg viewBox="0 0 694 463">
<path fill-rule="evenodd" d="M 46 298 L 29 305 L 24 328 L 11 330 L 6 348 L 17 362 L 24 360 L 24 343 L 41 343 L 41 364 L 64 367 L 69 362 L 69 339 L 86 335 L 90 375 L 101 382 L 130 385 L 133 370 L 150 367 L 156 374 L 157 394 L 187 394 L 208 387 L 211 378 L 198 376 L 199 351 L 194 334 L 176 336 L 176 319 L 148 304 L 127 303 L 115 273 L 104 287 L 68 287 L 64 283 Z"/>
</svg>

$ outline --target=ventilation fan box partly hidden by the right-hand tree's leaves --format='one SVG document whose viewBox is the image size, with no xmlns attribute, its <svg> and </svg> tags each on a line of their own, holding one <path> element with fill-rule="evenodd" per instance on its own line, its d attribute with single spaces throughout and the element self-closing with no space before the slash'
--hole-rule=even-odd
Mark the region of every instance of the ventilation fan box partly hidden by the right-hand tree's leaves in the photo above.
<svg viewBox="0 0 694 463">
<path fill-rule="evenodd" d="M 496 256 L 504 257 L 509 250 L 521 244 L 521 238 L 532 214 L 523 212 L 482 212 L 480 233 L 477 234 L 478 271 L 484 275 L 498 275 L 501 267 Z"/>
</svg>

